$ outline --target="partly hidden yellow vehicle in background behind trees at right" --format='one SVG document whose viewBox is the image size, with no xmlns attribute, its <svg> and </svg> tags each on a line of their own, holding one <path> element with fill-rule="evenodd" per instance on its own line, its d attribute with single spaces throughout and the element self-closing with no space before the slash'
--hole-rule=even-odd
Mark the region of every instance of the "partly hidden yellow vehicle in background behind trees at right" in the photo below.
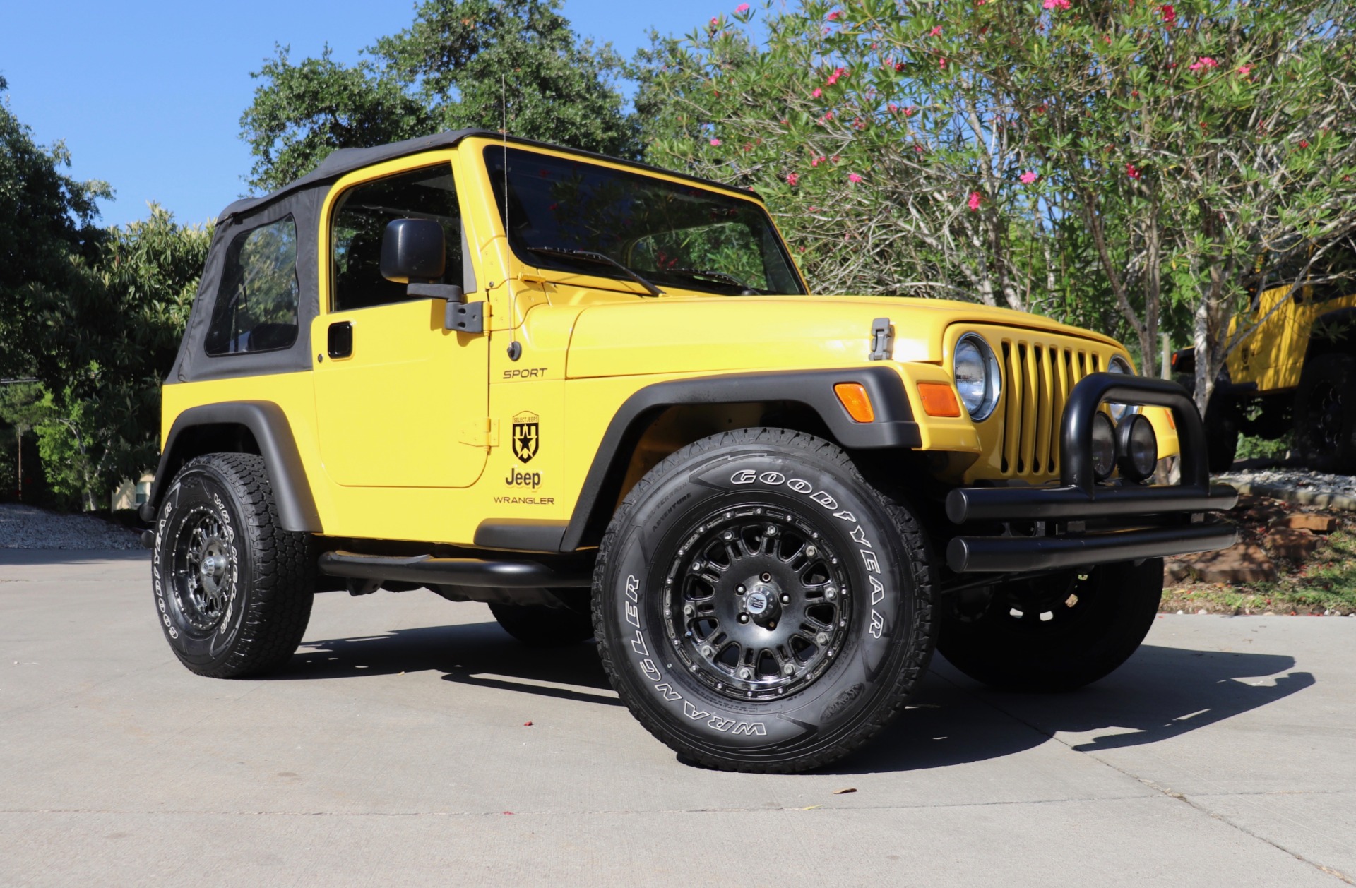
<svg viewBox="0 0 1356 888">
<path fill-rule="evenodd" d="M 1338 252 L 1325 277 L 1353 256 Z M 1317 274 L 1317 273 L 1315 273 Z M 1256 324 L 1226 359 L 1205 411 L 1211 472 L 1234 462 L 1239 432 L 1292 434 L 1291 456 L 1341 475 L 1356 475 L 1356 293 L 1349 282 L 1264 290 L 1230 336 Z M 1195 350 L 1177 351 L 1173 373 L 1191 385 Z"/>
</svg>

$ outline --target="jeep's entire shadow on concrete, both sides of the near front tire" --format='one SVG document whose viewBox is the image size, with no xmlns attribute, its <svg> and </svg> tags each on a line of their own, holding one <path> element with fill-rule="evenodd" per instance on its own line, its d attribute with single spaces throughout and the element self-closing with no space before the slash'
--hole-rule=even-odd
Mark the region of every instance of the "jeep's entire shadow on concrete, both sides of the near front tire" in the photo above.
<svg viewBox="0 0 1356 888">
<path fill-rule="evenodd" d="M 1315 683 L 1309 672 L 1283 674 L 1294 667 L 1295 659 L 1283 655 L 1143 645 L 1120 670 L 1081 690 L 1012 694 L 965 678 L 938 655 L 910 708 L 827 773 L 909 771 L 980 762 L 1033 748 L 1055 733 L 1092 735 L 1073 744 L 1082 752 L 1158 743 Z M 428 670 L 460 685 L 621 705 L 593 643 L 530 648 L 495 622 L 306 641 L 270 681 Z M 1272 675 L 1277 678 L 1265 678 Z"/>
</svg>

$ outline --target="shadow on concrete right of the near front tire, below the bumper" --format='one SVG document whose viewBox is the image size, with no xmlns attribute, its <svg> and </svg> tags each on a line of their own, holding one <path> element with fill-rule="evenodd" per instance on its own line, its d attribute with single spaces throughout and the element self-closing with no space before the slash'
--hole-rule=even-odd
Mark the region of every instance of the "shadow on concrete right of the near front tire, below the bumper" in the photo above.
<svg viewBox="0 0 1356 888">
<path fill-rule="evenodd" d="M 1064 694 L 994 691 L 937 655 L 909 710 L 831 771 L 923 770 L 999 758 L 1055 733 L 1098 752 L 1168 740 L 1273 704 L 1315 683 L 1295 659 L 1143 645 L 1112 675 Z M 1275 679 L 1265 677 L 1276 677 Z"/>
</svg>

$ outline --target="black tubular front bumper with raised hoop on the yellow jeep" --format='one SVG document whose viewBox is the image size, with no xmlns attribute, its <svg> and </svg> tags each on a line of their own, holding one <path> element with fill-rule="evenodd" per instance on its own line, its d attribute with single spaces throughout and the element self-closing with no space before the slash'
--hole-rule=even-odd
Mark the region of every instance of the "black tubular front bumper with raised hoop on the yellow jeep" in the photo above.
<svg viewBox="0 0 1356 888">
<path fill-rule="evenodd" d="M 1104 401 L 1168 407 L 1180 443 L 1181 484 L 1097 484 L 1093 415 Z M 1176 382 L 1093 373 L 1069 395 L 1059 435 L 1059 487 L 963 487 L 946 496 L 953 525 L 991 530 L 946 545 L 956 573 L 1048 571 L 1211 552 L 1234 545 L 1231 525 L 1207 521 L 1233 508 L 1234 488 L 1210 484 L 1205 432 Z"/>
</svg>

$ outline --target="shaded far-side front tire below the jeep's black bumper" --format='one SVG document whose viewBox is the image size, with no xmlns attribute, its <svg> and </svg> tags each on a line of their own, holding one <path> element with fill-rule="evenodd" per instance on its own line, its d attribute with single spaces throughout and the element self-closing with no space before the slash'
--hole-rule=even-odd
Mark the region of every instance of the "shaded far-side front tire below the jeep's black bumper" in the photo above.
<svg viewBox="0 0 1356 888">
<path fill-rule="evenodd" d="M 937 649 L 993 687 L 1074 690 L 1130 659 L 1154 625 L 1162 594 L 1162 559 L 1008 583 L 983 611 L 945 615 Z"/>
</svg>

